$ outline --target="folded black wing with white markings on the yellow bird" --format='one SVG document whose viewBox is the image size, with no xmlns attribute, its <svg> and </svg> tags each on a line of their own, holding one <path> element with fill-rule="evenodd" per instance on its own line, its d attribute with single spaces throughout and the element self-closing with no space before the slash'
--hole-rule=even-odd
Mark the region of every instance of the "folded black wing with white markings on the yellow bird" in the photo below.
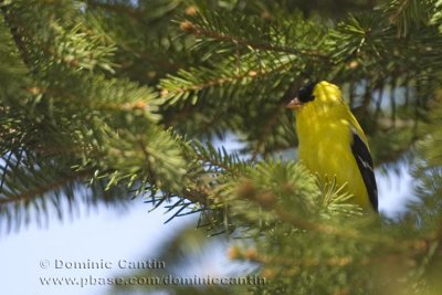
<svg viewBox="0 0 442 295">
<path fill-rule="evenodd" d="M 364 183 L 366 185 L 371 206 L 373 207 L 375 211 L 378 211 L 378 187 L 376 186 L 371 155 L 368 150 L 368 147 L 356 133 L 356 130 L 352 130 L 351 151 L 356 162 L 358 164 Z"/>
</svg>

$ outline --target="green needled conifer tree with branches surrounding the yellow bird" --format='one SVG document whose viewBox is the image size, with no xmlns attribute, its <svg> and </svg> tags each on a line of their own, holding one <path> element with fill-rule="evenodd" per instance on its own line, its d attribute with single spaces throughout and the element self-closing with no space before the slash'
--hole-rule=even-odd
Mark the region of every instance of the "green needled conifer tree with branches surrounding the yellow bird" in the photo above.
<svg viewBox="0 0 442 295">
<path fill-rule="evenodd" d="M 259 263 L 266 284 L 244 293 L 442 292 L 442 1 L 0 0 L 0 10 L 3 231 L 137 197 L 246 238 L 231 257 Z M 378 170 L 412 167 L 406 214 L 366 217 L 297 162 L 285 104 L 307 80 L 343 88 Z M 243 149 L 212 144 L 232 135 Z"/>
</svg>

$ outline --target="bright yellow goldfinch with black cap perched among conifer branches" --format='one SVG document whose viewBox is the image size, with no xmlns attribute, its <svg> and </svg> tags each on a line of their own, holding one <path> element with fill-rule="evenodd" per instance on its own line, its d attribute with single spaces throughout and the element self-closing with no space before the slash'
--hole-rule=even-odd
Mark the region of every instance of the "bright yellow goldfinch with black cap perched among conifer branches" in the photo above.
<svg viewBox="0 0 442 295">
<path fill-rule="evenodd" d="M 287 108 L 296 115 L 299 160 L 323 181 L 336 180 L 337 186 L 345 186 L 355 203 L 378 211 L 367 138 L 339 87 L 326 81 L 309 83 Z"/>
</svg>

